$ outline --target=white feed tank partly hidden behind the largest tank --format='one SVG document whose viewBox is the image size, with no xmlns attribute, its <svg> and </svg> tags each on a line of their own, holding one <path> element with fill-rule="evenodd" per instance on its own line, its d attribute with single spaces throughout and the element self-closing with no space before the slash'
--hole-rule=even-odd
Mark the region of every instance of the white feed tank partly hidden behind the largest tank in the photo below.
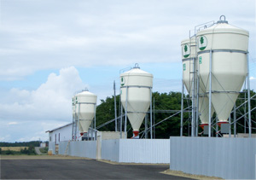
<svg viewBox="0 0 256 180">
<path fill-rule="evenodd" d="M 194 59 L 196 57 L 196 44 L 195 37 L 184 39 L 181 43 L 182 47 L 182 60 L 183 60 L 183 84 L 187 91 L 189 92 L 189 96 L 192 96 L 192 79 L 193 73 L 196 74 L 196 69 L 198 67 L 198 63 L 195 62 Z M 195 67 L 195 71 L 194 71 Z M 196 75 L 195 75 L 196 78 Z M 195 84 L 196 85 L 196 84 Z M 203 128 L 205 125 L 208 125 L 209 119 L 209 99 L 207 95 L 203 95 L 205 93 L 205 88 L 199 89 L 200 96 L 198 97 L 198 113 L 201 119 L 201 127 Z M 195 93 L 197 93 L 197 87 L 195 86 Z M 195 102 L 196 106 L 196 102 Z M 212 114 L 214 113 L 214 109 L 212 107 Z"/>
</svg>

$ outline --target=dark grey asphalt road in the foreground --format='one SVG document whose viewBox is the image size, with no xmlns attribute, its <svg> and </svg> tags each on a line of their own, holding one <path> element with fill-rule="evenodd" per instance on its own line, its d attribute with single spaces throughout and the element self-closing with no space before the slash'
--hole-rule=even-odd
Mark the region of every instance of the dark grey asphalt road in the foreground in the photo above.
<svg viewBox="0 0 256 180">
<path fill-rule="evenodd" d="M 1 160 L 1 179 L 188 179 L 168 165 L 111 165 L 96 160 Z"/>
</svg>

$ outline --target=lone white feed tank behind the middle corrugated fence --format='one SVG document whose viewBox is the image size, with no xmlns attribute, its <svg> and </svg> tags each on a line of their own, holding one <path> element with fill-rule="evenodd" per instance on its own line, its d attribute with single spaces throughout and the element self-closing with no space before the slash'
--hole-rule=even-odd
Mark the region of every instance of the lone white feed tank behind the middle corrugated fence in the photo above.
<svg viewBox="0 0 256 180">
<path fill-rule="evenodd" d="M 133 138 L 138 138 L 140 126 L 150 105 L 153 75 L 136 65 L 130 71 L 120 74 L 120 85 L 121 102 L 125 109 L 127 101 L 127 117 L 133 129 Z"/>
</svg>

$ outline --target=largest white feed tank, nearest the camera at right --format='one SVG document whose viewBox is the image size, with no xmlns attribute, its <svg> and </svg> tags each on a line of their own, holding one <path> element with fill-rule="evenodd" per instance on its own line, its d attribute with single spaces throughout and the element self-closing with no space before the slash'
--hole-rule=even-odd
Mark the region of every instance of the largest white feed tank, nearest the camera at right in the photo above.
<svg viewBox="0 0 256 180">
<path fill-rule="evenodd" d="M 200 86 L 207 91 L 207 96 L 212 50 L 212 105 L 218 124 L 228 122 L 246 78 L 248 38 L 247 31 L 229 25 L 226 20 L 218 20 L 196 34 Z"/>
</svg>

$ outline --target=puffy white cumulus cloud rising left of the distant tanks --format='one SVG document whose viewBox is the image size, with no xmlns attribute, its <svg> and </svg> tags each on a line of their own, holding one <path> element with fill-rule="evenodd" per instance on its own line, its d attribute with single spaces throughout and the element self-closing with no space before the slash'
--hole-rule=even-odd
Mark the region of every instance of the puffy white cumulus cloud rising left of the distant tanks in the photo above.
<svg viewBox="0 0 256 180">
<path fill-rule="evenodd" d="M 75 67 L 62 68 L 60 74 L 49 74 L 37 90 L 9 90 L 8 102 L 0 103 L 6 119 L 68 119 L 71 98 L 85 84 Z"/>
</svg>

